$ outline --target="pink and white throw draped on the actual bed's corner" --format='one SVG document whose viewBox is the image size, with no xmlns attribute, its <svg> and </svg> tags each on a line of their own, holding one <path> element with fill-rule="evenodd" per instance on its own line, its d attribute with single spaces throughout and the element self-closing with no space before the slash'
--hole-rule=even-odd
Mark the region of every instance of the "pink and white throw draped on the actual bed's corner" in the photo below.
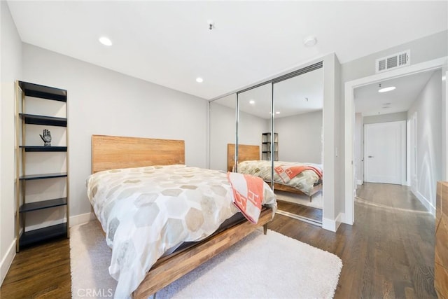
<svg viewBox="0 0 448 299">
<path fill-rule="evenodd" d="M 228 172 L 227 178 L 233 191 L 233 203 L 251 223 L 258 223 L 263 200 L 264 181 L 250 174 Z"/>
</svg>

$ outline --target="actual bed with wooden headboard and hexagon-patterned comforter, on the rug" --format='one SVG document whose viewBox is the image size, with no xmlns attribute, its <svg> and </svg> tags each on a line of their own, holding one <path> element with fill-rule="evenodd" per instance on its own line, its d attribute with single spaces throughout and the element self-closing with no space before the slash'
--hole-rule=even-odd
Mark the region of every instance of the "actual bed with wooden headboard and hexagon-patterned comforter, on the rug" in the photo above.
<svg viewBox="0 0 448 299">
<path fill-rule="evenodd" d="M 149 211 L 149 214 L 147 216 L 142 216 L 143 211 L 146 211 L 148 205 L 153 204 L 153 202 L 144 202 L 143 200 L 141 200 L 141 198 L 143 198 L 141 197 L 141 195 L 145 194 L 144 197 L 151 197 L 153 196 L 153 191 L 151 191 L 153 189 L 149 189 L 149 186 L 144 184 L 142 186 L 144 186 L 144 188 L 148 188 L 145 192 L 136 191 L 132 190 L 134 188 L 133 184 L 139 185 L 141 184 L 140 181 L 145 180 L 146 176 L 152 177 L 154 181 L 159 180 L 162 183 L 165 183 L 165 186 L 160 188 L 169 190 L 169 194 L 167 194 L 167 196 L 171 196 L 172 191 L 176 188 L 176 186 L 171 186 L 170 184 L 176 183 L 176 179 L 173 179 L 173 181 L 169 181 L 166 177 L 167 174 L 160 173 L 159 171 L 160 169 L 162 169 L 163 171 L 168 171 L 166 169 L 175 169 L 174 174 L 171 174 L 172 170 L 169 170 L 169 175 L 179 176 L 179 181 L 184 185 L 182 187 L 184 187 L 188 192 L 196 193 L 199 192 L 199 190 L 195 189 L 193 182 L 190 183 L 193 178 L 197 179 L 195 173 L 190 172 L 185 177 L 181 175 L 181 173 L 183 173 L 184 171 L 190 171 L 190 169 L 194 168 L 195 172 L 204 171 L 207 172 L 205 176 L 213 176 L 214 178 L 216 176 L 215 180 L 221 180 L 221 185 L 218 184 L 218 181 L 214 181 L 214 184 L 212 185 L 214 186 L 214 188 L 216 188 L 216 190 L 218 190 L 217 193 L 223 193 L 224 188 L 230 188 L 229 186 L 226 186 L 225 183 L 223 183 L 223 177 L 226 177 L 225 172 L 216 174 L 218 171 L 213 171 L 210 169 L 200 170 L 196 167 L 186 167 L 184 165 L 184 148 L 184 141 L 179 140 L 92 135 L 92 175 L 87 179 L 87 195 L 92 203 L 94 212 L 97 215 L 97 218 L 99 219 L 103 230 L 105 231 L 106 242 L 108 242 L 109 246 L 111 246 L 110 244 L 112 243 L 111 248 L 113 249 L 113 258 L 109 270 L 112 273 L 116 273 L 116 267 L 127 265 L 126 268 L 123 267 L 119 270 L 123 271 L 123 273 L 130 274 L 131 272 L 127 272 L 129 271 L 129 268 L 136 268 L 137 273 L 130 274 L 135 275 L 136 277 L 141 277 L 142 271 L 144 271 L 144 278 L 139 278 L 140 280 L 138 279 L 139 282 L 137 284 L 136 282 L 129 282 L 127 281 L 127 279 L 125 279 L 125 282 L 120 285 L 120 280 L 118 280 L 118 285 L 120 285 L 120 288 L 117 287 L 118 293 L 116 293 L 116 296 L 129 296 L 129 292 L 132 291 L 133 298 L 147 298 L 149 295 L 155 294 L 161 288 L 164 288 L 179 277 L 183 276 L 183 274 L 194 270 L 195 267 L 201 265 L 213 256 L 216 256 L 216 254 L 232 246 L 232 244 L 235 244 L 240 239 L 246 237 L 246 235 L 250 234 L 258 227 L 263 226 L 266 232 L 267 223 L 272 220 L 272 217 L 274 215 L 273 213 L 276 207 L 275 195 L 273 193 L 265 193 L 265 198 L 267 202 L 269 202 L 269 207 L 264 207 L 262 209 L 258 218 L 258 223 L 256 225 L 249 221 L 246 221 L 246 219 L 243 218 L 242 220 L 237 220 L 236 222 L 234 221 L 230 223 L 230 226 L 226 227 L 219 225 L 221 223 L 215 223 L 213 225 L 219 225 L 219 227 L 216 228 L 216 231 L 214 232 L 207 231 L 211 230 L 211 225 L 206 225 L 204 226 L 204 228 L 202 226 L 195 226 L 197 225 L 197 221 L 195 220 L 200 218 L 200 216 L 197 216 L 198 214 L 195 214 L 197 213 L 197 211 L 193 213 L 193 216 L 190 215 L 190 221 L 176 218 L 174 215 L 174 213 L 176 212 L 175 210 L 181 209 L 181 207 L 188 205 L 184 202 L 181 202 L 181 204 L 179 203 L 175 206 L 172 206 L 174 207 L 173 209 L 167 209 L 168 213 L 172 213 L 174 215 L 173 216 L 172 214 L 169 214 L 169 217 L 176 218 L 176 223 L 180 223 L 181 221 L 183 221 L 184 223 L 193 223 L 188 225 L 195 226 L 195 229 L 191 229 L 189 227 L 189 230 L 187 232 L 184 232 L 183 228 L 175 229 L 180 225 L 174 225 L 172 227 L 169 225 L 165 225 L 164 230 L 167 230 L 167 232 L 165 232 L 165 235 L 162 233 L 161 235 L 162 237 L 167 236 L 167 238 L 169 238 L 169 242 L 171 243 L 167 242 L 166 246 L 169 248 L 167 248 L 167 250 L 159 256 L 159 251 L 162 250 L 159 248 L 160 246 L 162 246 L 160 244 L 165 244 L 164 240 L 167 239 L 158 239 L 162 237 L 157 234 L 143 234 L 142 232 L 146 231 L 140 230 L 141 225 L 137 225 L 136 223 L 145 223 L 146 221 L 148 221 L 148 219 L 154 219 L 153 222 L 155 223 L 159 218 L 163 218 L 166 216 L 159 216 L 159 214 L 155 216 L 153 211 Z M 146 172 L 147 175 L 139 176 L 139 172 Z M 121 177 L 122 173 L 125 174 L 123 177 Z M 192 175 L 192 179 L 189 179 L 190 175 Z M 202 180 L 197 181 L 202 182 Z M 106 184 L 110 182 L 115 184 L 113 190 L 108 189 L 109 187 L 106 187 Z M 203 186 L 197 186 L 197 189 L 200 188 L 203 188 Z M 208 187 L 206 186 L 204 188 Z M 269 186 L 263 188 L 263 190 L 269 190 L 266 192 L 270 192 Z M 188 193 L 187 191 L 185 193 Z M 226 192 L 229 193 L 229 191 Z M 221 197 L 227 198 L 227 193 L 221 194 Z M 218 195 L 210 196 L 214 200 L 216 200 L 214 204 L 221 204 L 221 200 L 219 199 L 221 197 L 218 198 Z M 162 197 L 162 195 L 160 195 L 160 197 Z M 116 198 L 117 203 L 111 204 L 111 198 Z M 169 198 L 170 200 L 173 200 L 174 197 Z M 125 200 L 127 202 L 125 202 Z M 104 205 L 102 205 L 102 202 L 104 203 Z M 132 204 L 130 204 L 131 202 Z M 196 203 L 191 204 L 195 205 Z M 222 205 L 224 206 L 224 204 Z M 230 204 L 230 206 L 233 205 Z M 230 211 L 230 214 L 232 214 L 234 211 L 233 209 L 235 209 L 235 207 L 227 207 L 223 210 L 219 210 L 218 214 L 223 214 L 225 218 L 227 217 L 226 213 L 229 212 L 228 210 L 232 210 Z M 190 211 L 192 210 L 193 209 L 189 208 L 188 214 L 190 214 Z M 127 214 L 132 215 L 132 220 L 127 221 L 125 218 L 123 218 L 123 215 Z M 241 213 L 237 213 L 236 215 L 238 214 Z M 215 216 L 215 214 L 213 215 Z M 232 216 L 230 220 L 232 218 L 235 217 Z M 193 222 L 191 220 L 193 220 Z M 207 221 L 209 220 L 206 219 L 203 222 Z M 210 223 L 212 222 L 213 220 L 211 220 Z M 225 222 L 227 223 L 228 221 Z M 151 225 L 157 226 L 153 223 L 151 223 Z M 149 228 L 151 227 L 151 225 L 146 225 L 148 226 L 149 230 L 152 229 Z M 165 228 L 168 226 L 169 228 Z M 137 230 L 136 227 L 139 230 Z M 173 228 L 174 230 L 177 230 L 179 232 L 174 232 L 174 230 L 172 230 Z M 197 242 L 179 242 L 179 239 L 175 239 L 177 237 L 176 233 L 178 233 L 179 235 L 194 235 L 193 237 L 197 237 L 197 235 L 200 235 L 200 237 L 195 240 Z M 120 239 L 126 239 L 127 235 L 133 234 L 137 237 L 132 239 L 132 241 L 128 241 L 127 243 L 120 242 Z M 146 235 L 148 237 L 141 238 L 141 235 Z M 144 242 L 146 239 L 148 239 L 148 242 Z M 152 239 L 157 239 L 157 241 L 153 242 L 151 241 Z M 186 241 L 192 240 L 186 239 Z M 153 253 L 152 247 L 150 248 L 147 244 L 145 244 L 151 242 L 157 244 L 157 249 L 155 249 L 155 251 L 157 251 L 156 253 Z M 115 244 L 121 245 L 115 246 Z M 172 246 L 172 244 L 175 245 Z M 134 248 L 134 251 L 137 253 L 144 253 L 134 254 L 139 258 L 139 260 L 137 261 L 138 263 L 130 260 L 130 256 L 132 256 L 132 254 L 127 256 L 124 255 L 123 248 L 127 250 L 129 247 Z M 114 259 L 114 255 L 117 257 L 116 259 Z M 147 262 L 147 260 L 149 260 L 148 269 L 146 269 L 146 264 L 143 265 Z M 141 267 L 139 266 L 139 263 L 142 264 Z M 137 265 L 137 267 L 134 267 L 134 265 Z M 125 277 L 125 275 L 123 275 L 123 277 Z M 134 286 L 132 284 L 134 284 Z M 121 287 L 123 285 L 125 287 Z M 129 294 L 126 293 L 127 291 L 129 291 Z"/>
</svg>

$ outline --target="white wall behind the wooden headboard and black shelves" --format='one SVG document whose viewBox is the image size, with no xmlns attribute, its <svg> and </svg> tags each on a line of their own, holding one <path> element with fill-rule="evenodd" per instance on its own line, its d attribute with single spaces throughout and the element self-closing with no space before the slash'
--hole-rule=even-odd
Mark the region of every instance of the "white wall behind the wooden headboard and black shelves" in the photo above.
<svg viewBox="0 0 448 299">
<path fill-rule="evenodd" d="M 186 164 L 206 167 L 206 100 L 26 43 L 22 65 L 23 81 L 67 90 L 71 218 L 90 213 L 92 134 L 184 139 Z"/>
</svg>

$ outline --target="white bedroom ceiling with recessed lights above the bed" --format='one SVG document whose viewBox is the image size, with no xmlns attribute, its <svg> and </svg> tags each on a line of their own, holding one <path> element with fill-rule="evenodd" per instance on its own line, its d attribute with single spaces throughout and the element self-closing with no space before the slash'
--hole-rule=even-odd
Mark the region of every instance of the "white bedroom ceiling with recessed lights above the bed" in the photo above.
<svg viewBox="0 0 448 299">
<path fill-rule="evenodd" d="M 8 1 L 22 41 L 214 99 L 447 29 L 447 1 Z M 215 28 L 209 30 L 208 20 Z M 109 36 L 113 46 L 98 42 Z M 316 36 L 316 46 L 303 39 Z M 203 83 L 195 78 L 201 76 Z"/>
</svg>

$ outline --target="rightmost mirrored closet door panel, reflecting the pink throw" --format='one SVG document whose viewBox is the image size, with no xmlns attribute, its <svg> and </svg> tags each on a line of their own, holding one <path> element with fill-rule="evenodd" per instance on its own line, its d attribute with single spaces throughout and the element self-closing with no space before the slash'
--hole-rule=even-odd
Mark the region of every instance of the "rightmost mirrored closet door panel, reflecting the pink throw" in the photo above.
<svg viewBox="0 0 448 299">
<path fill-rule="evenodd" d="M 274 192 L 279 213 L 322 223 L 323 69 L 316 64 L 274 79 Z"/>
</svg>

